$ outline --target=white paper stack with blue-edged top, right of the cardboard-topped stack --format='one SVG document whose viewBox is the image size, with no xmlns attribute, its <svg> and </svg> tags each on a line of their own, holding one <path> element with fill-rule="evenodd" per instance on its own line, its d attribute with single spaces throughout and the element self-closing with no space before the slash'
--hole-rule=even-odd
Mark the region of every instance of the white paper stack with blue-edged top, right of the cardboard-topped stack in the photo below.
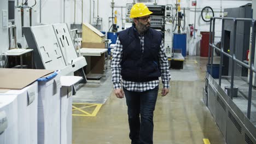
<svg viewBox="0 0 256 144">
<path fill-rule="evenodd" d="M 60 143 L 60 76 L 38 82 L 38 144 Z"/>
</svg>

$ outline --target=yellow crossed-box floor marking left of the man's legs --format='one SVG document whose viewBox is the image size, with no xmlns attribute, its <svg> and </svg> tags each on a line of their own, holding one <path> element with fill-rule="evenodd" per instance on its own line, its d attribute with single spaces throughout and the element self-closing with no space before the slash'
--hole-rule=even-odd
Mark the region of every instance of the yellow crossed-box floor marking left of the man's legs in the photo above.
<svg viewBox="0 0 256 144">
<path fill-rule="evenodd" d="M 73 107 L 73 110 L 72 111 L 75 111 L 75 110 L 78 110 L 80 112 L 82 112 L 83 114 L 72 114 L 72 116 L 89 116 L 89 117 L 95 117 L 98 113 L 98 111 L 100 111 L 101 109 L 101 106 L 102 104 L 85 104 L 85 103 L 73 103 L 75 104 L 76 106 L 72 106 Z M 78 105 L 83 105 L 83 107 L 78 107 Z M 84 105 L 87 105 L 87 106 L 84 106 Z M 89 112 L 86 112 L 85 110 L 82 110 L 82 109 L 85 109 L 85 108 L 88 108 L 88 107 L 93 107 L 95 106 L 95 109 L 92 113 L 89 113 Z"/>
</svg>

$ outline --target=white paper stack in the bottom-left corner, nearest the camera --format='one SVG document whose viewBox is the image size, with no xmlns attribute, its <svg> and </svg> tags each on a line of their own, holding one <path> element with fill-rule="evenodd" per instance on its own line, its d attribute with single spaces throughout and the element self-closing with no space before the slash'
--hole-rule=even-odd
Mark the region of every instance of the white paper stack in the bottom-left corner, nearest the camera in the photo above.
<svg viewBox="0 0 256 144">
<path fill-rule="evenodd" d="M 0 143 L 18 144 L 17 95 L 0 95 Z"/>
</svg>

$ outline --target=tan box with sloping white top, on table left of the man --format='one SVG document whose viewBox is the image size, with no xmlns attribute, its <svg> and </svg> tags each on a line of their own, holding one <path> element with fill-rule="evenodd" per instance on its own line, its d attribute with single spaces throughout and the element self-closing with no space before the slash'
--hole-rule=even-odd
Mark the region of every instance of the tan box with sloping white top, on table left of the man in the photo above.
<svg viewBox="0 0 256 144">
<path fill-rule="evenodd" d="M 85 22 L 82 26 L 82 41 L 86 43 L 104 43 L 106 36 L 98 31 L 90 23 Z"/>
</svg>

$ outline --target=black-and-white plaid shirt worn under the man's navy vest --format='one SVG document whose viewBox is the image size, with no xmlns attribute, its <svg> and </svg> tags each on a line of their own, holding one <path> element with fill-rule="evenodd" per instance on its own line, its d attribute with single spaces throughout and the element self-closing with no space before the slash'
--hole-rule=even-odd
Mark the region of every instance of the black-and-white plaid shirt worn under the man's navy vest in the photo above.
<svg viewBox="0 0 256 144">
<path fill-rule="evenodd" d="M 142 52 L 144 51 L 144 36 L 139 36 L 141 40 Z M 160 45 L 160 51 L 158 52 L 160 69 L 161 69 L 161 78 L 162 83 L 164 84 L 164 88 L 169 88 L 169 81 L 171 79 L 171 75 L 169 73 L 169 66 L 167 57 L 165 55 L 165 48 L 163 41 Z M 153 89 L 159 85 L 159 80 L 148 81 L 148 82 L 133 82 L 133 81 L 125 81 L 121 79 L 121 60 L 123 57 L 123 45 L 120 43 L 119 38 L 114 47 L 113 59 L 112 59 L 112 82 L 114 84 L 114 89 L 122 88 L 121 83 L 123 81 L 123 87 L 128 91 L 133 92 L 144 92 L 149 89 Z"/>
</svg>

